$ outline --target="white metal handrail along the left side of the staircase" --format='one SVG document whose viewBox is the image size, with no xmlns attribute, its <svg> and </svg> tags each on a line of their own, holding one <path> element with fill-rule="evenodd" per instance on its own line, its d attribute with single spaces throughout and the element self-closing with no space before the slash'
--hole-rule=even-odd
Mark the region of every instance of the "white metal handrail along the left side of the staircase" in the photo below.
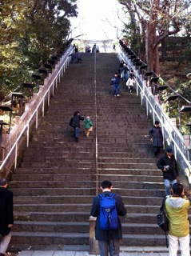
<svg viewBox="0 0 191 256">
<path fill-rule="evenodd" d="M 45 102 L 47 101 L 48 106 L 50 105 L 50 96 L 54 95 L 55 88 L 61 81 L 62 75 L 66 71 L 67 66 L 69 66 L 69 55 L 73 52 L 73 50 L 73 46 L 70 46 L 62 55 L 58 64 L 55 66 L 53 73 L 50 74 L 49 78 L 45 79 L 44 86 L 39 86 L 40 89 L 38 94 L 32 98 L 32 102 L 30 102 L 28 110 L 22 114 L 21 122 L 14 126 L 10 134 L 6 134 L 9 136 L 6 142 L 6 158 L 3 159 L 1 163 L 0 171 L 2 171 L 4 166 L 6 166 L 6 162 L 12 153 L 14 153 L 14 168 L 16 168 L 18 158 L 18 144 L 23 134 L 26 133 L 26 146 L 29 146 L 31 121 L 35 118 L 36 128 L 38 128 L 38 118 L 40 115 L 43 117 L 45 114 Z"/>
</svg>

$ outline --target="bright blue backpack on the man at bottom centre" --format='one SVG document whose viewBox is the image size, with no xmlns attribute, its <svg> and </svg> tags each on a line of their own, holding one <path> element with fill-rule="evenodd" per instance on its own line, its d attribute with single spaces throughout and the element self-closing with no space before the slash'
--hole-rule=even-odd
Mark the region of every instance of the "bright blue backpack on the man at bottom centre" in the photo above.
<svg viewBox="0 0 191 256">
<path fill-rule="evenodd" d="M 117 208 L 114 199 L 115 194 L 99 194 L 100 199 L 100 215 L 99 224 L 101 230 L 116 230 L 118 227 Z"/>
</svg>

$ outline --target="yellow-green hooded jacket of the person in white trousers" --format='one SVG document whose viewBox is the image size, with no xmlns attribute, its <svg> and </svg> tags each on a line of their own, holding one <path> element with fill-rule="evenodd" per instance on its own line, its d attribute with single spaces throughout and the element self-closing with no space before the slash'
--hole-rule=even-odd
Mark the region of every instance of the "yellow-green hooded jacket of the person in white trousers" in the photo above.
<svg viewBox="0 0 191 256">
<path fill-rule="evenodd" d="M 166 198 L 165 212 L 169 219 L 168 234 L 176 237 L 185 237 L 189 234 L 189 205 L 190 202 L 185 196 L 183 198 L 173 196 Z"/>
</svg>

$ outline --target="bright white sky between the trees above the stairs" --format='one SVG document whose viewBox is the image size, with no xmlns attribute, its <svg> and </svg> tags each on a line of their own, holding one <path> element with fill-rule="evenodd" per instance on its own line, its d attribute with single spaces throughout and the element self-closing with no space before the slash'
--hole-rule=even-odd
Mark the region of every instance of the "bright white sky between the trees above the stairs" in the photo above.
<svg viewBox="0 0 191 256">
<path fill-rule="evenodd" d="M 117 18 L 117 10 L 121 10 L 121 5 L 117 0 L 78 0 L 77 5 L 78 18 L 70 19 L 73 29 L 78 26 L 72 31 L 72 38 L 84 34 L 84 39 L 117 41 L 117 35 L 121 37 L 120 28 L 123 25 Z M 112 25 L 119 28 L 118 33 Z"/>
</svg>

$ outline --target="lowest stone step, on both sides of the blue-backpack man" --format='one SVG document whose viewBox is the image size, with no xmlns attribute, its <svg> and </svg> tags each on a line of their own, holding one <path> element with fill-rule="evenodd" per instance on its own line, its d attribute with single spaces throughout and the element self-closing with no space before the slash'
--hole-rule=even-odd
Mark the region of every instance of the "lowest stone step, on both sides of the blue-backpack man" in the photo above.
<svg viewBox="0 0 191 256">
<path fill-rule="evenodd" d="M 50 245 L 89 245 L 90 234 L 78 233 L 44 233 L 44 232 L 13 232 L 10 245 L 18 250 L 39 250 Z M 121 246 L 165 246 L 164 234 L 123 234 Z"/>
</svg>

